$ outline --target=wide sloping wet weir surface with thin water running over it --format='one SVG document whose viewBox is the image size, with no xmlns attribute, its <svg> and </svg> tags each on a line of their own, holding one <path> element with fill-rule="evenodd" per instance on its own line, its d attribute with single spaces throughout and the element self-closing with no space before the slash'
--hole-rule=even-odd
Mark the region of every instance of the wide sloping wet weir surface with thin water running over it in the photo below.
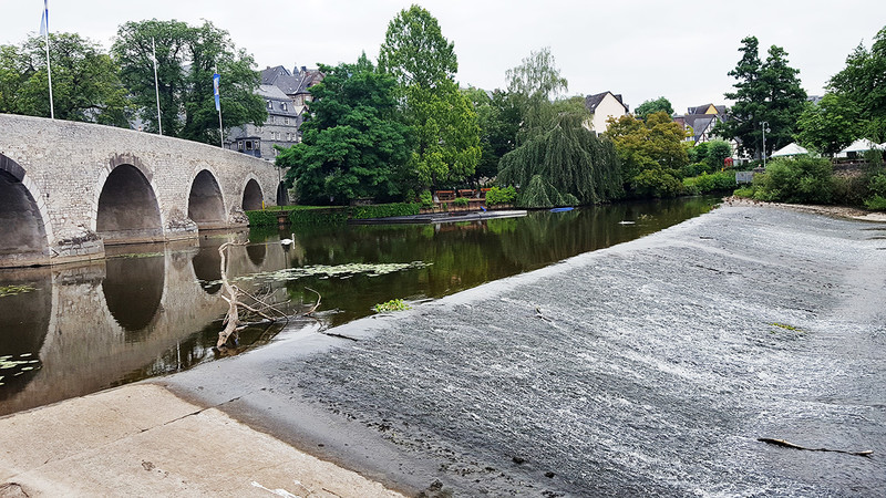
<svg viewBox="0 0 886 498">
<path fill-rule="evenodd" d="M 878 496 L 884 235 L 723 207 L 158 382 L 412 495 Z"/>
</svg>

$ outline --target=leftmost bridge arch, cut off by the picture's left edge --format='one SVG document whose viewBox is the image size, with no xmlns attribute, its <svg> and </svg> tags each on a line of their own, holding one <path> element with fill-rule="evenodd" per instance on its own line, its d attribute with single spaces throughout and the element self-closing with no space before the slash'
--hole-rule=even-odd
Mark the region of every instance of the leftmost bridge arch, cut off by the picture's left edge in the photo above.
<svg viewBox="0 0 886 498">
<path fill-rule="evenodd" d="M 0 154 L 0 267 L 43 264 L 52 226 L 37 185 L 18 163 Z"/>
</svg>

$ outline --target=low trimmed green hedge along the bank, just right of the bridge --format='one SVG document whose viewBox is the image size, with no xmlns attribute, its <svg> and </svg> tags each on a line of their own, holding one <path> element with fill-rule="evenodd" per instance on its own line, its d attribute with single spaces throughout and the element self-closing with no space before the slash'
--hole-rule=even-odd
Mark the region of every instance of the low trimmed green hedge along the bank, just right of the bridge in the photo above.
<svg viewBox="0 0 886 498">
<path fill-rule="evenodd" d="M 394 203 L 370 206 L 285 206 L 277 210 L 246 211 L 250 227 L 276 227 L 280 224 L 281 211 L 289 214 L 282 218 L 289 225 L 342 225 L 349 219 L 390 218 L 393 216 L 418 215 L 421 204 Z"/>
</svg>

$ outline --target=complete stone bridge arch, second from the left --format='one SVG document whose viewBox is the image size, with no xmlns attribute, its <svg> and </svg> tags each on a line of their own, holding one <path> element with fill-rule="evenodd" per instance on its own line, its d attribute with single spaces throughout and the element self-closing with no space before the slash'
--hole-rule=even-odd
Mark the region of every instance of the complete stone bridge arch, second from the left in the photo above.
<svg viewBox="0 0 886 498">
<path fill-rule="evenodd" d="M 101 172 L 92 229 L 105 245 L 163 240 L 165 222 L 152 177 L 131 155 L 112 157 Z"/>
</svg>

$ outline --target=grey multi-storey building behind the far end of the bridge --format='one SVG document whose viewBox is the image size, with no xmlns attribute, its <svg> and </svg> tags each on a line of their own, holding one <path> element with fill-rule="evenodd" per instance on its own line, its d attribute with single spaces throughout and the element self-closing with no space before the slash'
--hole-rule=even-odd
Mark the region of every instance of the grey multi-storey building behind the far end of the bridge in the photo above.
<svg viewBox="0 0 886 498">
<path fill-rule="evenodd" d="M 275 85 L 259 85 L 257 93 L 265 100 L 268 118 L 261 126 L 247 123 L 231 128 L 226 146 L 250 156 L 274 160 L 277 157 L 275 145 L 287 148 L 299 142 L 301 110 Z"/>
</svg>

